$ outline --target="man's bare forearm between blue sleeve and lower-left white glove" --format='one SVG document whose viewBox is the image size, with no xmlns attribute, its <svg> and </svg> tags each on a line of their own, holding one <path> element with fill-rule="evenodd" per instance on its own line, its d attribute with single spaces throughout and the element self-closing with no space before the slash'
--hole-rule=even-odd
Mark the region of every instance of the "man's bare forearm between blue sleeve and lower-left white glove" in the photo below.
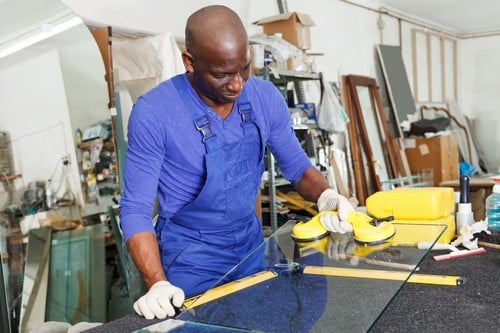
<svg viewBox="0 0 500 333">
<path fill-rule="evenodd" d="M 127 241 L 127 248 L 134 263 L 141 272 L 146 287 L 150 288 L 155 282 L 166 280 L 161 265 L 160 250 L 156 236 L 150 232 L 140 232 Z"/>
</svg>

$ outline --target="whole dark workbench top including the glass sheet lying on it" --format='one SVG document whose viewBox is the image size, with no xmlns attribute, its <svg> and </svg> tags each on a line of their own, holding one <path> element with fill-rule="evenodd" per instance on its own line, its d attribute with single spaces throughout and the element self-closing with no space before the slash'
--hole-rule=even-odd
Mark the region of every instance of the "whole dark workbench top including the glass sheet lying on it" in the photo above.
<svg viewBox="0 0 500 333">
<path fill-rule="evenodd" d="M 262 251 L 256 251 L 256 255 L 264 255 L 266 269 L 241 280 L 242 288 L 223 285 L 215 294 L 217 288 L 213 288 L 204 294 L 208 298 L 199 298 L 199 304 L 191 304 L 175 320 L 148 321 L 132 314 L 89 332 L 498 331 L 498 250 L 435 262 L 431 256 L 446 251 L 427 254 L 416 247 L 390 246 L 366 256 L 374 262 L 360 261 L 353 266 L 328 258 L 324 244 L 298 246 L 290 238 L 292 225 L 285 224 L 263 243 Z M 374 264 L 383 261 L 417 265 L 419 270 L 411 274 L 406 269 Z M 322 274 L 310 274 L 308 267 Z M 404 271 L 410 279 L 422 274 L 461 276 L 466 282 L 437 285 L 341 277 L 325 274 L 329 269 L 335 274 L 341 269 Z M 150 327 L 155 324 L 159 325 L 156 329 Z"/>
</svg>

